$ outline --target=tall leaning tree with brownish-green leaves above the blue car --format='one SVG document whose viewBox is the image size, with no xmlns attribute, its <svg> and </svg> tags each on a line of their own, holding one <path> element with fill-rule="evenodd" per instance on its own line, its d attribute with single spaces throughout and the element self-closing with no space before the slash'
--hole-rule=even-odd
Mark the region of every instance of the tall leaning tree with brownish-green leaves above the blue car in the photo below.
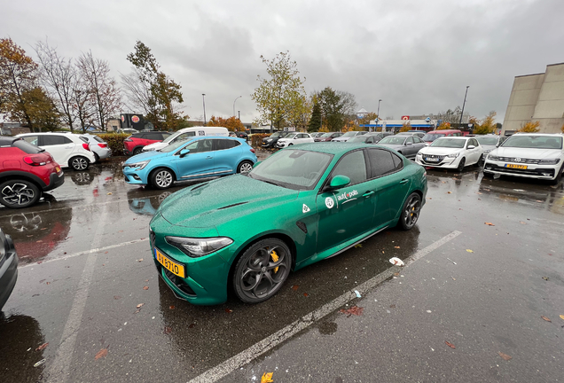
<svg viewBox="0 0 564 383">
<path fill-rule="evenodd" d="M 161 66 L 145 43 L 137 41 L 127 59 L 134 68 L 130 74 L 121 75 L 121 82 L 129 103 L 143 109 L 145 118 L 155 128 L 177 129 L 187 118 L 178 110 L 184 102 L 180 84 L 161 71 Z"/>
</svg>

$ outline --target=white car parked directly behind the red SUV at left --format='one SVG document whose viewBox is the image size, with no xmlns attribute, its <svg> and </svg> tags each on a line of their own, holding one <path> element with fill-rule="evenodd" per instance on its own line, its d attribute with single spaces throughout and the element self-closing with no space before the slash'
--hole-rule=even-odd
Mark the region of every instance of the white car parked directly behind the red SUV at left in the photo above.
<svg viewBox="0 0 564 383">
<path fill-rule="evenodd" d="M 39 146 L 49 152 L 61 167 L 86 170 L 96 157 L 90 151 L 88 140 L 72 133 L 25 133 L 21 137 L 29 144 Z"/>
</svg>

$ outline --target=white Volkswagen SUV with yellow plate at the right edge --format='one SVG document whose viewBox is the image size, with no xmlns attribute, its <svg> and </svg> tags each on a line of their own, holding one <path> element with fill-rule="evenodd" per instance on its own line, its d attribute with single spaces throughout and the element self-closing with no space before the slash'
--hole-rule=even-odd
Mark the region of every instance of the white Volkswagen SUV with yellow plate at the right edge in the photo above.
<svg viewBox="0 0 564 383">
<path fill-rule="evenodd" d="M 547 133 L 516 133 L 488 154 L 486 175 L 521 176 L 560 182 L 564 171 L 564 136 Z"/>
</svg>

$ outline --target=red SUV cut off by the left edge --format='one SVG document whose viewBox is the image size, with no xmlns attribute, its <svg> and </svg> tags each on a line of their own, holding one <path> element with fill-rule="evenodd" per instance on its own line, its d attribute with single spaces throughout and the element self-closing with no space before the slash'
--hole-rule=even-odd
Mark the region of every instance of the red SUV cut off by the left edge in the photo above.
<svg viewBox="0 0 564 383">
<path fill-rule="evenodd" d="M 43 191 L 65 182 L 63 171 L 51 154 L 18 137 L 0 137 L 0 204 L 29 207 Z"/>
</svg>

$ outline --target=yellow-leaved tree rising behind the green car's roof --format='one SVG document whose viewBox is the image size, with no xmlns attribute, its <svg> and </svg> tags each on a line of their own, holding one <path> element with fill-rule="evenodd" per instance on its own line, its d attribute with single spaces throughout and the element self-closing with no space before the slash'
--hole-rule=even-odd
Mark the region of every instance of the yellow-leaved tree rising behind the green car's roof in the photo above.
<svg viewBox="0 0 564 383">
<path fill-rule="evenodd" d="M 268 78 L 259 74 L 258 88 L 251 98 L 255 101 L 259 116 L 255 119 L 258 124 L 271 125 L 283 129 L 286 121 L 296 123 L 302 121 L 304 114 L 308 113 L 305 89 L 297 69 L 297 64 L 290 58 L 290 52 L 280 52 L 274 59 L 265 59 Z"/>
</svg>

